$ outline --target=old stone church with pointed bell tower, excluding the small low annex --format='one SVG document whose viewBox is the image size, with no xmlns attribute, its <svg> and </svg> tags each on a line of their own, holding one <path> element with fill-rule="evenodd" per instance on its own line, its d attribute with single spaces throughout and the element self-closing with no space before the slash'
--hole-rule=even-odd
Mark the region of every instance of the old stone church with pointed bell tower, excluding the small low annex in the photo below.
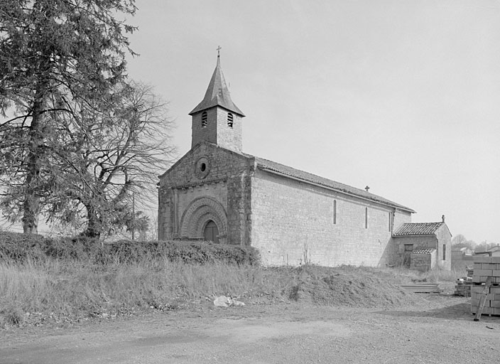
<svg viewBox="0 0 500 364">
<path fill-rule="evenodd" d="M 405 247 L 393 232 L 415 211 L 244 153 L 245 115 L 232 102 L 219 56 L 190 115 L 191 149 L 158 184 L 160 240 L 251 245 L 271 265 L 401 264 Z"/>
</svg>

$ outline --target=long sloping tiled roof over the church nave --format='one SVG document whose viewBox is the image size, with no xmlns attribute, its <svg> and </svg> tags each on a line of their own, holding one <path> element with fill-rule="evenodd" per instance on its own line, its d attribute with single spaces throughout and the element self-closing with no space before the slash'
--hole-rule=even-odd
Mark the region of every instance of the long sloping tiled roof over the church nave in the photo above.
<svg viewBox="0 0 500 364">
<path fill-rule="evenodd" d="M 245 155 L 250 156 L 248 154 Z M 312 182 L 320 186 L 325 186 L 327 188 L 332 188 L 341 193 L 347 193 L 350 195 L 358 196 L 360 198 L 366 198 L 368 200 L 373 200 L 375 202 L 381 203 L 383 205 L 388 205 L 394 208 L 400 208 L 401 210 L 406 210 L 410 213 L 415 213 L 415 210 L 412 210 L 411 208 L 407 208 L 406 206 L 400 205 L 391 200 L 387 200 L 386 198 L 383 198 L 381 196 L 374 195 L 373 193 L 366 192 L 362 189 L 354 188 L 352 186 L 345 185 L 344 183 L 335 182 L 330 179 L 316 176 L 315 174 L 312 173 L 300 171 L 299 169 L 285 166 L 283 164 L 279 164 L 273 161 L 268 161 L 267 159 L 259 158 L 256 156 L 250 156 L 250 157 L 253 157 L 257 163 L 258 168 L 261 168 L 263 170 L 267 169 L 268 171 L 278 172 L 280 174 L 289 176 L 291 178 L 297 178 L 299 180 Z"/>
</svg>

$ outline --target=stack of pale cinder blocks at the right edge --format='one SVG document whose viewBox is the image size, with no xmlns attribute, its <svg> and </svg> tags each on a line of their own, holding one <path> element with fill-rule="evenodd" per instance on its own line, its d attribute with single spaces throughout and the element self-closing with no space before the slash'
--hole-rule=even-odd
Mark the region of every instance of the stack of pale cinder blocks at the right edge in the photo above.
<svg viewBox="0 0 500 364">
<path fill-rule="evenodd" d="M 473 314 L 477 312 L 487 277 L 491 277 L 491 286 L 486 292 L 482 314 L 500 316 L 500 257 L 474 257 L 471 311 Z"/>
</svg>

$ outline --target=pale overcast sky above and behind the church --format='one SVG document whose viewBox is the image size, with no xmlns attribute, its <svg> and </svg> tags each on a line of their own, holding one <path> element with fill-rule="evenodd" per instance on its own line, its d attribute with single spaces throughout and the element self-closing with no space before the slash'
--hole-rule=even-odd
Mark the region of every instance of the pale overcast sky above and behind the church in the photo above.
<svg viewBox="0 0 500 364">
<path fill-rule="evenodd" d="M 244 151 L 500 242 L 500 1 L 137 0 L 129 75 L 188 112 L 222 47 Z"/>
</svg>

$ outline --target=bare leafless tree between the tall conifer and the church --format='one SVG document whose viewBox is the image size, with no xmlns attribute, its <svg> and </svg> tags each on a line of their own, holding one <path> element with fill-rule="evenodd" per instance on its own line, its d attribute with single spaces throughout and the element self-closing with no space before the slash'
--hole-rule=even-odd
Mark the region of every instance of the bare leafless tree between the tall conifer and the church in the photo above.
<svg viewBox="0 0 500 364">
<path fill-rule="evenodd" d="M 121 228 L 145 230 L 149 220 L 141 208 L 156 196 L 158 174 L 174 153 L 165 103 L 150 86 L 132 82 L 116 90 L 108 109 L 74 109 L 78 117 L 61 120 L 50 141 L 46 215 L 85 225 L 89 237 Z"/>
</svg>

